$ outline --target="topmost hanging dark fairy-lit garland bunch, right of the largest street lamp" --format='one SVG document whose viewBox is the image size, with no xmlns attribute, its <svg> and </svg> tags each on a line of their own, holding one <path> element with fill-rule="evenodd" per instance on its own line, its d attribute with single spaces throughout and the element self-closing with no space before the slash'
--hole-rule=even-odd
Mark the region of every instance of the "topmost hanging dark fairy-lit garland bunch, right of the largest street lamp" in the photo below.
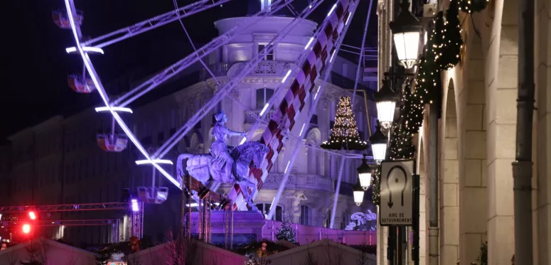
<svg viewBox="0 0 551 265">
<path fill-rule="evenodd" d="M 449 70 L 461 61 L 461 48 L 463 38 L 461 37 L 461 22 L 459 21 L 459 0 L 451 0 L 446 11 L 446 20 L 442 30 L 442 48 L 440 69 Z M 436 29 L 436 28 L 435 28 Z M 438 31 L 437 31 L 438 33 Z"/>
</svg>

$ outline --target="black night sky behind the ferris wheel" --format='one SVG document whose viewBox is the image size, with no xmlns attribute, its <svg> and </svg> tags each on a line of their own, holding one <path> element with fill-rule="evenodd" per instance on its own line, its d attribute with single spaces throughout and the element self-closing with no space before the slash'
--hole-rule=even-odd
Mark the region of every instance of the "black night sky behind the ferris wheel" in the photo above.
<svg viewBox="0 0 551 265">
<path fill-rule="evenodd" d="M 184 6 L 196 0 L 179 0 Z M 256 1 L 256 0 L 250 0 Z M 373 0 L 367 46 L 377 45 L 377 3 Z M 100 96 L 77 94 L 67 85 L 67 75 L 82 72 L 78 55 L 68 55 L 65 48 L 74 46 L 70 30 L 55 26 L 51 11 L 64 8 L 63 0 L 6 1 L 2 28 L 0 139 L 56 114 L 70 116 L 82 109 L 100 105 Z M 203 11 L 184 18 L 183 23 L 197 47 L 218 35 L 213 22 L 220 18 L 244 16 L 248 0 L 233 0 L 222 7 Z M 321 23 L 334 0 L 325 0 L 309 17 Z M 307 0 L 295 0 L 294 8 L 301 11 Z M 92 38 L 118 28 L 130 26 L 174 9 L 172 0 L 75 0 L 84 12 L 82 35 Z M 369 0 L 360 0 L 344 43 L 360 46 Z M 285 11 L 284 13 L 289 13 Z M 105 48 L 105 55 L 92 55 L 102 82 L 109 82 L 137 67 L 150 75 L 193 52 L 183 29 L 176 21 L 140 36 L 123 40 Z M 346 55 L 346 53 L 340 53 Z M 357 56 L 347 56 L 356 62 Z M 159 87 L 158 89 L 162 89 Z"/>
</svg>

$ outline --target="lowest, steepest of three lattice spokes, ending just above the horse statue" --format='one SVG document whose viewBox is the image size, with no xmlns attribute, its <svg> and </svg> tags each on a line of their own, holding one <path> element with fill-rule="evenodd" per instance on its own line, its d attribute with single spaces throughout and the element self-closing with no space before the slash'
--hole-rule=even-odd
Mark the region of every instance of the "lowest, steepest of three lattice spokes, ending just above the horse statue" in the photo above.
<svg viewBox="0 0 551 265">
<path fill-rule="evenodd" d="M 287 0 L 287 3 L 290 3 L 291 1 L 292 0 Z M 200 121 L 200 119 L 203 119 L 203 117 L 205 117 L 205 114 L 210 112 L 210 110 L 213 109 L 216 106 L 216 104 L 218 104 L 218 102 L 220 102 L 220 100 L 222 100 L 226 96 L 226 94 L 228 94 L 228 92 L 230 92 L 230 90 L 232 90 L 233 87 L 237 86 L 239 84 L 239 82 L 241 82 L 241 80 L 243 78 L 245 78 L 246 75 L 249 75 L 250 72 L 252 72 L 252 70 L 255 69 L 256 65 L 258 65 L 258 63 L 260 63 L 260 61 L 264 59 L 264 56 L 267 53 L 269 53 L 273 50 L 274 45 L 270 45 L 270 44 L 277 43 L 277 42 L 279 42 L 279 40 L 284 38 L 284 36 L 287 36 L 287 33 L 289 33 L 295 26 L 297 26 L 299 24 L 299 22 L 302 21 L 302 19 L 306 18 L 306 16 L 309 16 L 309 14 L 312 11 L 314 11 L 315 7 L 319 6 L 319 4 L 321 4 L 321 1 L 323 1 L 323 0 L 319 0 L 318 5 L 316 5 L 316 6 L 309 6 L 306 9 L 304 9 L 299 14 L 299 16 L 294 18 L 293 21 L 291 21 L 291 23 L 287 24 L 287 26 L 285 26 L 282 29 L 282 31 L 280 31 L 277 34 L 277 36 L 275 38 L 273 38 L 272 41 L 270 41 L 268 43 L 268 45 L 266 45 L 266 47 L 259 52 L 259 54 L 256 56 L 256 58 L 253 58 L 252 60 L 247 62 L 245 64 L 245 67 L 239 73 L 237 73 L 237 75 L 235 75 L 235 77 L 233 77 L 232 80 L 230 80 L 226 85 L 221 87 L 220 90 L 214 94 L 213 98 L 210 99 L 207 103 L 205 103 L 205 107 L 201 108 L 198 112 L 196 112 L 196 114 L 194 114 L 193 117 L 191 117 L 191 119 L 189 119 L 186 122 L 186 124 L 184 124 L 181 127 L 181 129 L 179 129 L 176 132 L 176 134 L 173 134 L 173 136 L 171 136 L 171 138 L 168 139 L 168 141 L 166 141 L 156 151 L 156 153 L 154 153 L 153 157 L 154 158 L 163 158 L 163 156 L 166 153 L 168 153 L 168 151 L 171 150 L 171 148 L 173 148 L 173 146 L 175 146 L 178 143 L 178 141 L 180 141 L 183 138 L 183 136 L 188 134 L 188 132 L 193 128 L 193 126 L 198 121 Z M 281 6 L 281 8 L 283 6 Z M 274 6 L 271 6 L 271 7 L 272 7 L 272 10 L 273 10 Z"/>
</svg>

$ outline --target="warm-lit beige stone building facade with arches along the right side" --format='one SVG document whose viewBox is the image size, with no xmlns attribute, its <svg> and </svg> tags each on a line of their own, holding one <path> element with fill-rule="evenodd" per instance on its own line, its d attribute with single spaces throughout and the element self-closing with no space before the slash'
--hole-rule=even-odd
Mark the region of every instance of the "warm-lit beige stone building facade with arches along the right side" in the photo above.
<svg viewBox="0 0 551 265">
<path fill-rule="evenodd" d="M 439 134 L 429 135 L 429 117 L 425 114 L 417 139 L 421 176 L 420 264 L 429 262 L 430 137 L 437 137 L 439 145 L 439 197 L 435 198 L 439 200 L 439 264 L 471 264 L 486 241 L 488 264 L 511 264 L 514 227 L 523 225 L 513 220 L 511 166 L 515 159 L 517 118 L 518 1 L 489 0 L 485 10 L 470 15 L 472 19 L 460 12 L 465 45 L 461 63 L 442 74 Z M 533 247 L 534 264 L 550 264 L 550 3 L 536 3 Z M 425 6 L 425 12 L 430 6 Z M 446 10 L 447 6 L 449 1 L 439 1 L 437 10 Z M 378 3 L 380 53 L 392 48 L 388 22 L 392 21 L 392 9 L 397 8 L 392 1 Z M 380 70 L 387 69 L 387 62 L 380 60 Z M 380 242 L 384 242 L 387 229 L 379 231 Z M 378 264 L 387 264 L 386 246 L 378 246 Z"/>
</svg>

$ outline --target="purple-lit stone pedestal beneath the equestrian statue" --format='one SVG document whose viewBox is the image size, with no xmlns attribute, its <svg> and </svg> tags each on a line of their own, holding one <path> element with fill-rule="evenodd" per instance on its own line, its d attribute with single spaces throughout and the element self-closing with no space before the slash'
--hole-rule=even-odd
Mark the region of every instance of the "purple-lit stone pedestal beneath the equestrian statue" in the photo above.
<svg viewBox="0 0 551 265">
<path fill-rule="evenodd" d="M 198 212 L 191 212 L 193 234 L 198 233 Z M 262 227 L 266 220 L 258 211 L 233 212 L 233 244 L 248 244 L 262 240 Z M 226 227 L 227 226 L 227 227 Z M 210 212 L 210 244 L 224 244 L 226 229 L 228 230 L 228 244 L 232 232 L 232 212 Z"/>
</svg>

